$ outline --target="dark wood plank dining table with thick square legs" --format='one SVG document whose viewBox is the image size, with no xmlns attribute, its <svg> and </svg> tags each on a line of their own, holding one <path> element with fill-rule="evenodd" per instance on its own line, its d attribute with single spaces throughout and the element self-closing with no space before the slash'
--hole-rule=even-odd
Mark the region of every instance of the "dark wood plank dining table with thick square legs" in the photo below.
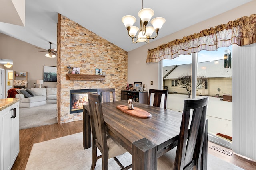
<svg viewBox="0 0 256 170">
<path fill-rule="evenodd" d="M 118 105 L 127 105 L 127 101 L 102 103 L 106 131 L 132 154 L 133 170 L 156 170 L 157 158 L 177 146 L 182 113 L 134 102 L 134 107 L 152 115 L 142 119 L 116 108 Z M 83 110 L 83 145 L 87 149 L 91 147 L 89 105 L 84 105 Z M 201 167 L 204 169 L 207 166 L 207 135 L 204 138 L 201 160 Z"/>
</svg>

